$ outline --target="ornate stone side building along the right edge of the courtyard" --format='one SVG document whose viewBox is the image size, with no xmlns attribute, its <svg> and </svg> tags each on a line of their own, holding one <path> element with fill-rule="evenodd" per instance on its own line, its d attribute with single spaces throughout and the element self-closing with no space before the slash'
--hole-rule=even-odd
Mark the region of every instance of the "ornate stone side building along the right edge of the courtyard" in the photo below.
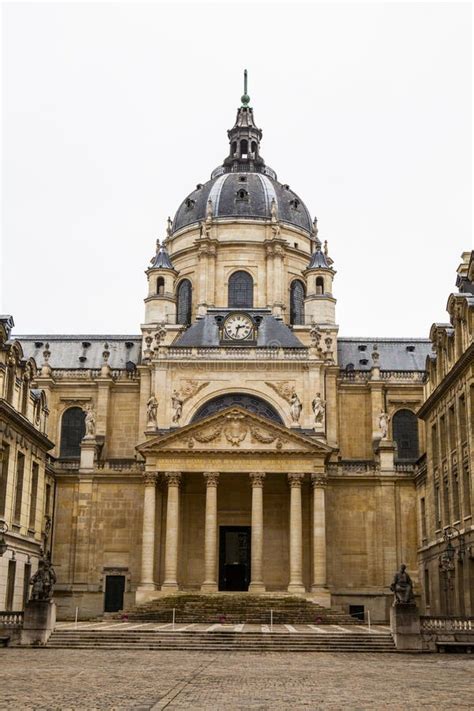
<svg viewBox="0 0 474 711">
<path fill-rule="evenodd" d="M 474 252 L 458 269 L 449 323 L 434 323 L 416 474 L 419 574 L 427 613 L 474 615 Z"/>
</svg>

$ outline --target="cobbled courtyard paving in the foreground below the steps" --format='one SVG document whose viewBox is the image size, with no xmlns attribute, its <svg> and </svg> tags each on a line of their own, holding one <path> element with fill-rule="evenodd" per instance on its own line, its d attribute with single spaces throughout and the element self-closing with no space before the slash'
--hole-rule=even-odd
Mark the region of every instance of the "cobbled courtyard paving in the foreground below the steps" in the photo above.
<svg viewBox="0 0 474 711">
<path fill-rule="evenodd" d="M 473 707 L 474 657 L 0 649 L 0 709 Z"/>
</svg>

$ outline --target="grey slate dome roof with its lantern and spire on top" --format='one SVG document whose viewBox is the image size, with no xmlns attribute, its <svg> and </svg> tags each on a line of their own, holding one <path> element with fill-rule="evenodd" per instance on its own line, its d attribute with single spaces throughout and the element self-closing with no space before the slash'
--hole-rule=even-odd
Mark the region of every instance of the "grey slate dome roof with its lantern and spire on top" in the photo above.
<svg viewBox="0 0 474 711">
<path fill-rule="evenodd" d="M 262 221 L 271 219 L 275 200 L 281 222 L 311 234 L 313 223 L 306 205 L 288 185 L 278 182 L 276 173 L 260 155 L 262 131 L 255 125 L 249 101 L 245 82 L 242 106 L 237 111 L 235 125 L 227 132 L 229 154 L 213 171 L 211 179 L 197 185 L 181 203 L 173 221 L 173 233 L 204 221 L 208 200 L 212 201 L 214 219 Z"/>
</svg>

